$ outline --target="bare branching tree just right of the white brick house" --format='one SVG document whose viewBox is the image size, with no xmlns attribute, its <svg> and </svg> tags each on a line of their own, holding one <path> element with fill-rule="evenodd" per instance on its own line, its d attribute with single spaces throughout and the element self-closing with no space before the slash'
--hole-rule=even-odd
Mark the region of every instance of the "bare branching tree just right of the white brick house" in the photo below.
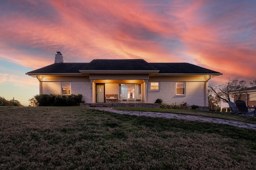
<svg viewBox="0 0 256 170">
<path fill-rule="evenodd" d="M 234 96 L 240 99 L 245 90 L 248 88 L 246 86 L 246 81 L 239 81 L 238 78 L 231 80 L 228 78 L 228 82 L 220 85 L 210 84 L 209 89 L 214 92 L 217 98 L 222 99 L 224 102 L 230 102 Z"/>
</svg>

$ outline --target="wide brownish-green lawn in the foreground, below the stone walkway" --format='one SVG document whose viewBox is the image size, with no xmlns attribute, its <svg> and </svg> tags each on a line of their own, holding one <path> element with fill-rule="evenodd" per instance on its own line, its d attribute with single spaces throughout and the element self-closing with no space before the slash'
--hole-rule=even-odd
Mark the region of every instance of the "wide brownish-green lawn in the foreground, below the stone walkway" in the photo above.
<svg viewBox="0 0 256 170">
<path fill-rule="evenodd" d="M 253 170 L 255 160 L 252 129 L 79 106 L 0 107 L 1 170 Z"/>
</svg>

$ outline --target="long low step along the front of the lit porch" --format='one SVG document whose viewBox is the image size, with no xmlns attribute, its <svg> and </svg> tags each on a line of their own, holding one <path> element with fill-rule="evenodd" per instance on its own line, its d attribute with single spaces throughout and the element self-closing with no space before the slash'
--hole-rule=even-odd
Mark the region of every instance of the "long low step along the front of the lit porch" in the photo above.
<svg viewBox="0 0 256 170">
<path fill-rule="evenodd" d="M 80 103 L 80 106 L 87 107 L 146 107 L 160 108 L 158 103 Z"/>
</svg>

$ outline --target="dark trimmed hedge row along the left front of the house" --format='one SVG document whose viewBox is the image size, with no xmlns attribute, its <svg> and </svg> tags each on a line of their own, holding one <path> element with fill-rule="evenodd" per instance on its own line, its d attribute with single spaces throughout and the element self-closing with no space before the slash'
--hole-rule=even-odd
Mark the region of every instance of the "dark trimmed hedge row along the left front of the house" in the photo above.
<svg viewBox="0 0 256 170">
<path fill-rule="evenodd" d="M 30 106 L 79 106 L 82 101 L 82 94 L 38 94 L 30 99 Z"/>
</svg>

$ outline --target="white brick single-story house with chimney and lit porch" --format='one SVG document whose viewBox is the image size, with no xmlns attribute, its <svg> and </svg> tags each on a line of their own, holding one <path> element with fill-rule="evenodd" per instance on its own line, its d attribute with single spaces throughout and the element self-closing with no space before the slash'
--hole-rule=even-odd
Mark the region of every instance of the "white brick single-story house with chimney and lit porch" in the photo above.
<svg viewBox="0 0 256 170">
<path fill-rule="evenodd" d="M 94 59 L 55 63 L 26 73 L 39 81 L 40 94 L 82 94 L 86 103 L 141 102 L 208 106 L 208 80 L 220 72 L 189 63 L 147 63 L 143 59 Z M 107 100 L 106 100 L 107 99 Z"/>
</svg>

